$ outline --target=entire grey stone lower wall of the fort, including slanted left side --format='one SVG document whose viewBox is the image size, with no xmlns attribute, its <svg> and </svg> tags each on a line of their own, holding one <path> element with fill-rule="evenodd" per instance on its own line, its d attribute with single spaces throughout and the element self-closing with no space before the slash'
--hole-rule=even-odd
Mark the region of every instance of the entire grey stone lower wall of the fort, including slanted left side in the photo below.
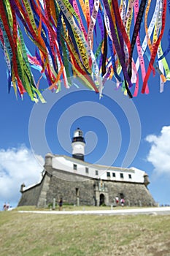
<svg viewBox="0 0 170 256">
<path fill-rule="evenodd" d="M 40 184 L 26 189 L 18 206 L 45 207 L 63 198 L 64 203 L 75 205 L 99 205 L 101 194 L 104 204 L 112 205 L 115 197 L 123 196 L 128 206 L 155 206 L 155 201 L 144 184 L 118 181 L 100 181 L 87 176 L 77 176 L 49 167 Z"/>
</svg>

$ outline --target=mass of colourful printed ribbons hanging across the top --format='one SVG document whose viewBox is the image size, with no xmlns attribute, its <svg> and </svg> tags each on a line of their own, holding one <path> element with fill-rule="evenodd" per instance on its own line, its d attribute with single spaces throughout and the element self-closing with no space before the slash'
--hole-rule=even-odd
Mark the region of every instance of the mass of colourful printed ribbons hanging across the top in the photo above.
<svg viewBox="0 0 170 256">
<path fill-rule="evenodd" d="M 163 91 L 170 80 L 170 29 L 168 47 L 161 44 L 169 13 L 170 0 L 1 0 L 0 48 L 8 89 L 45 102 L 42 78 L 58 92 L 61 80 L 69 89 L 72 76 L 78 76 L 100 96 L 112 79 L 124 94 L 136 97 L 139 90 L 149 93 L 150 74 L 157 72 Z M 34 53 L 28 50 L 30 39 Z M 32 69 L 39 70 L 39 78 Z"/>
</svg>

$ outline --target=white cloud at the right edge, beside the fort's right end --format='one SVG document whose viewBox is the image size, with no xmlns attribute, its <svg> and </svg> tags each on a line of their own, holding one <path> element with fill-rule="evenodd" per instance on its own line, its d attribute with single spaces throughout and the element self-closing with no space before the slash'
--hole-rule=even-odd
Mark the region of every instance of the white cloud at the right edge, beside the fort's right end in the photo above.
<svg viewBox="0 0 170 256">
<path fill-rule="evenodd" d="M 170 176 L 170 127 L 163 127 L 161 135 L 148 135 L 146 140 L 151 144 L 147 161 L 154 166 L 154 172 Z"/>
</svg>

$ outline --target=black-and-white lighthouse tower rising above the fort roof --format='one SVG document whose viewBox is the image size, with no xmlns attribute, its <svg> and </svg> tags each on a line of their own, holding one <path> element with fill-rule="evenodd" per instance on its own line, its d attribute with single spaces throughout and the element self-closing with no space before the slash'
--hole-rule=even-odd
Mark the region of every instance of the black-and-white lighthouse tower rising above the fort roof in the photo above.
<svg viewBox="0 0 170 256">
<path fill-rule="evenodd" d="M 84 161 L 85 157 L 85 139 L 82 130 L 77 128 L 72 138 L 72 157 Z"/>
</svg>

